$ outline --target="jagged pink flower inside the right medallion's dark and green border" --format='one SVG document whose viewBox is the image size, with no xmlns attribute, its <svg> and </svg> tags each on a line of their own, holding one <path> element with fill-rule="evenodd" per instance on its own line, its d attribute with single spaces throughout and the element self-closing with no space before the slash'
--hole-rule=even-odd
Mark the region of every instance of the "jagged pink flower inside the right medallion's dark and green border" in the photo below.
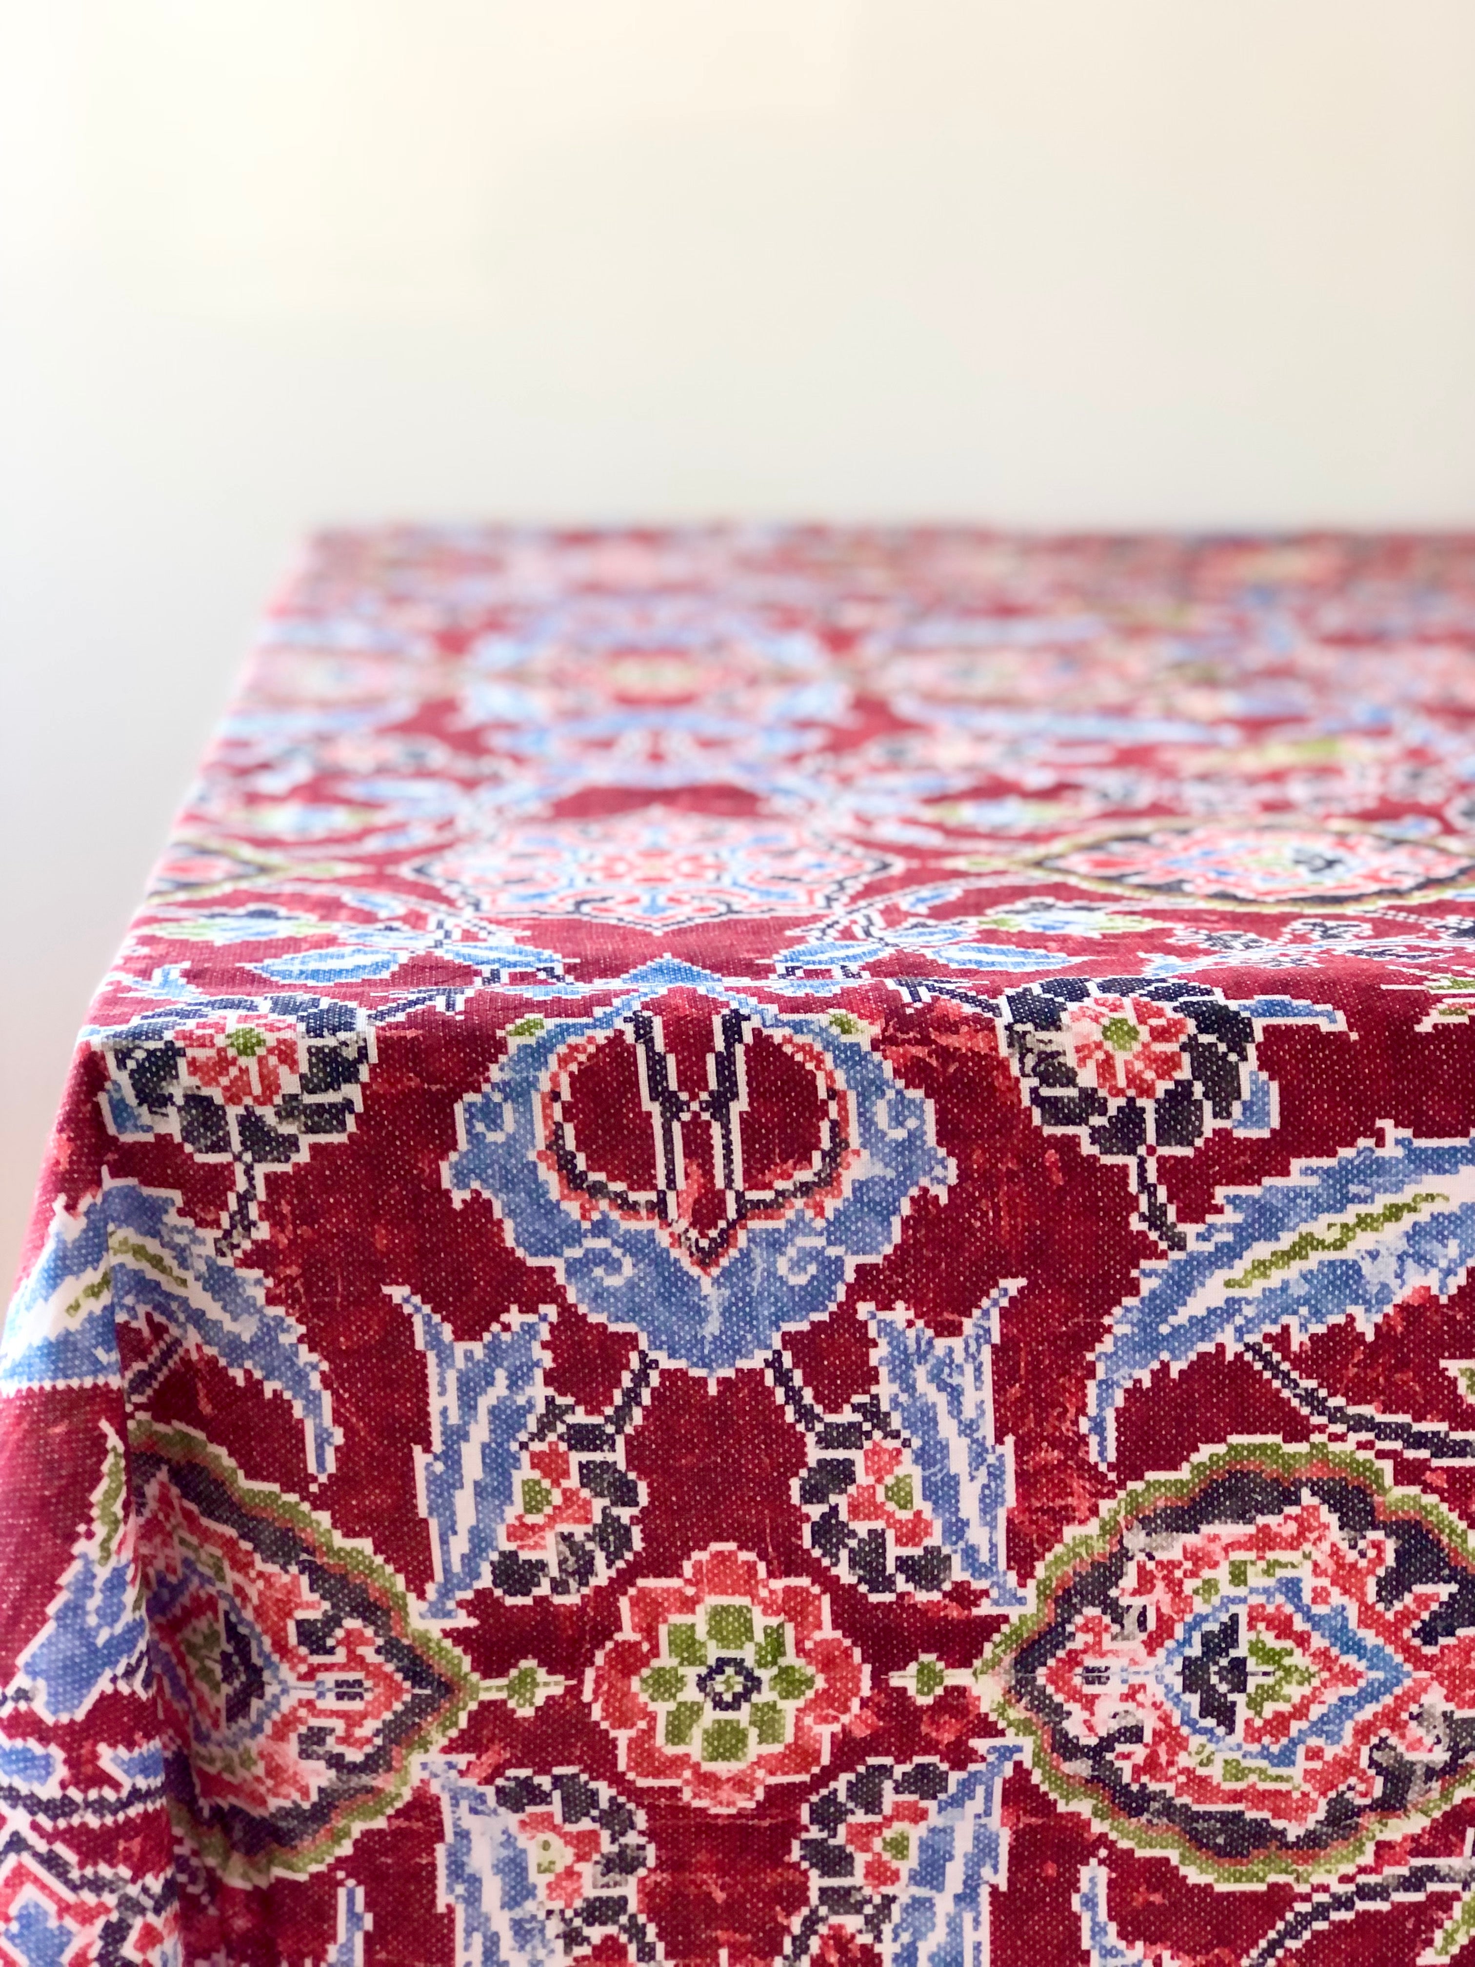
<svg viewBox="0 0 1475 1967">
<path fill-rule="evenodd" d="M 1379 1601 L 1392 1562 L 1385 1534 L 1353 1544 L 1316 1501 L 1204 1528 L 1137 1556 L 1119 1593 L 1133 1617 L 1084 1609 L 1044 1684 L 1084 1737 L 1117 1743 L 1121 1778 L 1304 1829 L 1335 1798 L 1375 1800 L 1375 1743 L 1436 1755 L 1428 1717 L 1471 1694 L 1463 1640 L 1436 1670 L 1414 1639 L 1440 1587 Z"/>
</svg>

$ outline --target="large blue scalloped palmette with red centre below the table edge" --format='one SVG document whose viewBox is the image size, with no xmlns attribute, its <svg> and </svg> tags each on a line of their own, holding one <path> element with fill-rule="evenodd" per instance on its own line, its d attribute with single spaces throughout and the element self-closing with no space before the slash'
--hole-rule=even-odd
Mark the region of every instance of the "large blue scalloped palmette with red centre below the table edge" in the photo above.
<svg viewBox="0 0 1475 1967">
<path fill-rule="evenodd" d="M 627 985 L 592 1017 L 509 1029 L 460 1105 L 450 1190 L 488 1194 L 594 1318 L 732 1371 L 832 1310 L 952 1162 L 848 1013 L 785 1015 L 677 962 Z"/>
</svg>

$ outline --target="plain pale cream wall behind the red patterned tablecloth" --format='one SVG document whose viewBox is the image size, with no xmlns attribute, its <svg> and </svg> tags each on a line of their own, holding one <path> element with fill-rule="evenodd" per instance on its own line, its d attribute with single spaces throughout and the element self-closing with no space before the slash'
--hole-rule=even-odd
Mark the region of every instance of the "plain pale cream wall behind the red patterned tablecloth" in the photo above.
<svg viewBox="0 0 1475 1967">
<path fill-rule="evenodd" d="M 1475 521 L 1471 0 L 0 0 L 0 1271 L 293 537 Z"/>
</svg>

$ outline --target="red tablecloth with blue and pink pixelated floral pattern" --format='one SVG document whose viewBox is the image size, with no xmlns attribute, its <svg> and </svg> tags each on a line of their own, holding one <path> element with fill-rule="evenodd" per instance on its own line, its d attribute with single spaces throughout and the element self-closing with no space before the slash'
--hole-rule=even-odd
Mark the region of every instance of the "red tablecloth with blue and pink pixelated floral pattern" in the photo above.
<svg viewBox="0 0 1475 1967">
<path fill-rule="evenodd" d="M 0 1349 L 8 1967 L 1475 1961 L 1475 541 L 324 537 Z"/>
</svg>

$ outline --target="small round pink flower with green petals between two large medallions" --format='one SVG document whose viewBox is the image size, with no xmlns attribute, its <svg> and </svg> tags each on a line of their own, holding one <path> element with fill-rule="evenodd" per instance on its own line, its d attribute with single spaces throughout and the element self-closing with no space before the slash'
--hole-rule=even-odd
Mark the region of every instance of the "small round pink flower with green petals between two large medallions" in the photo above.
<svg viewBox="0 0 1475 1967">
<path fill-rule="evenodd" d="M 621 1613 L 590 1674 L 594 1715 L 627 1776 L 675 1784 L 702 1810 L 751 1810 L 767 1784 L 812 1776 L 865 1696 L 824 1593 L 771 1580 L 732 1544 L 690 1558 L 684 1578 L 635 1585 Z"/>
</svg>

